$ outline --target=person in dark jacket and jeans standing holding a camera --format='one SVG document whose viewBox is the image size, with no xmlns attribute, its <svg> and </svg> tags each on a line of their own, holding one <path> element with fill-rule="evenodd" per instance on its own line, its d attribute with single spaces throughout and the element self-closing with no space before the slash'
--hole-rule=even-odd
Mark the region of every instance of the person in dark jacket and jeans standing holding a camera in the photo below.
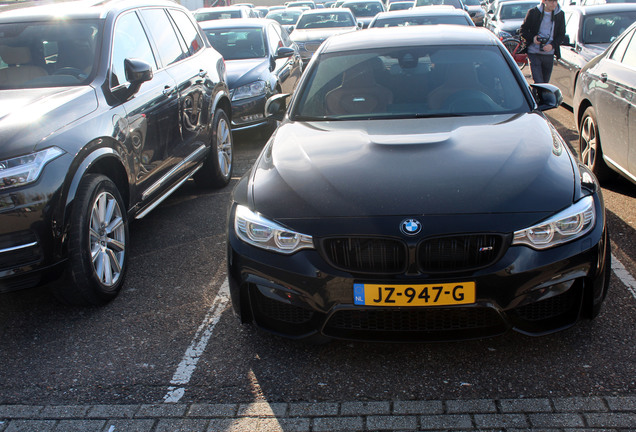
<svg viewBox="0 0 636 432">
<path fill-rule="evenodd" d="M 565 40 L 565 14 L 557 0 L 541 0 L 528 11 L 521 24 L 530 60 L 530 72 L 535 83 L 547 83 L 552 75 L 554 57 L 561 58 L 561 44 Z"/>
</svg>

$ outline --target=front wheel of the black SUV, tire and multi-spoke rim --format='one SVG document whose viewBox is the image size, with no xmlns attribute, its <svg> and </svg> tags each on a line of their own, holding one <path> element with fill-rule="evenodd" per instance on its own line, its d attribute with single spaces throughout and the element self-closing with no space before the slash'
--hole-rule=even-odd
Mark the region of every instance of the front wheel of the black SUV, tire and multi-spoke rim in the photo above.
<svg viewBox="0 0 636 432">
<path fill-rule="evenodd" d="M 64 303 L 100 305 L 124 284 L 128 261 L 128 218 L 115 184 L 106 176 L 82 179 L 69 229 L 68 277 L 56 288 Z"/>
</svg>

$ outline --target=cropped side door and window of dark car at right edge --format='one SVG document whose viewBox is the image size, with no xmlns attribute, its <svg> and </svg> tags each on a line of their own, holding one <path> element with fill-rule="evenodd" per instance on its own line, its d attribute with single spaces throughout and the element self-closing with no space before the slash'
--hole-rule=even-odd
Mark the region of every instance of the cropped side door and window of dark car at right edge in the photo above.
<svg viewBox="0 0 636 432">
<path fill-rule="evenodd" d="M 603 154 L 622 170 L 628 170 L 629 144 L 635 138 L 630 137 L 630 129 L 633 129 L 631 123 L 636 121 L 636 43 L 630 43 L 634 39 L 633 34 L 634 31 L 612 48 L 612 52 L 607 53 L 595 73 L 598 81 L 595 84 L 597 98 L 594 108 Z"/>
</svg>

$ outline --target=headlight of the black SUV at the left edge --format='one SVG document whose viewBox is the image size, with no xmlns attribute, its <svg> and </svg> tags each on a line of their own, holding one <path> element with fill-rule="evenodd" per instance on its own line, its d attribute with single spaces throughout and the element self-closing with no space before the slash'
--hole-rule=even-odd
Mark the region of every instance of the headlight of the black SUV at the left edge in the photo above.
<svg viewBox="0 0 636 432">
<path fill-rule="evenodd" d="M 44 166 L 64 150 L 49 147 L 45 150 L 0 161 L 0 190 L 24 186 L 38 179 Z"/>
</svg>

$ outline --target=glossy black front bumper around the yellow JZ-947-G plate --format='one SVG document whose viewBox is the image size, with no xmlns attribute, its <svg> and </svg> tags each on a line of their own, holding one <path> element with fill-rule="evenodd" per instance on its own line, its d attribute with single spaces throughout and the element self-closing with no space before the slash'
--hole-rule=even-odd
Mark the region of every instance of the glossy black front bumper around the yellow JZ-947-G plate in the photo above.
<svg viewBox="0 0 636 432">
<path fill-rule="evenodd" d="M 233 217 L 233 215 L 231 215 Z M 233 219 L 230 219 L 233 220 Z M 602 216 L 598 219 L 603 221 Z M 475 271 L 369 275 L 335 268 L 322 250 L 283 256 L 254 248 L 229 230 L 232 303 L 243 322 L 303 339 L 314 335 L 365 341 L 446 341 L 509 330 L 543 335 L 591 316 L 607 290 L 609 249 L 603 223 L 574 242 L 545 251 L 504 248 Z M 354 304 L 354 283 L 429 284 L 474 281 L 469 305 L 374 307 Z"/>
</svg>

